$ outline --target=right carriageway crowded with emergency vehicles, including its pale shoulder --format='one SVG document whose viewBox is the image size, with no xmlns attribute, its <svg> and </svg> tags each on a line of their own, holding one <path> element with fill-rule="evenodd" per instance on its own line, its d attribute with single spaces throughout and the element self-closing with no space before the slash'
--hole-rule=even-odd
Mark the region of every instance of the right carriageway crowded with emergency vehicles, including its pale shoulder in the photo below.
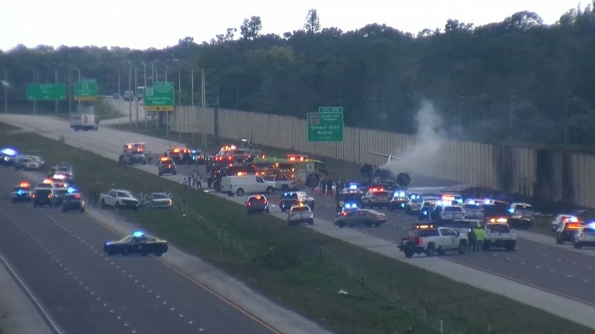
<svg viewBox="0 0 595 334">
<path fill-rule="evenodd" d="M 4 119 L 10 124 L 40 131 L 42 136 L 55 139 L 60 135 L 64 136 L 67 144 L 92 150 L 95 153 L 109 157 L 109 159 L 113 160 L 117 159 L 117 155 L 121 150 L 121 145 L 127 141 L 145 141 L 147 143 L 147 149 L 154 153 L 164 151 L 168 145 L 180 145 L 179 143 L 171 141 L 168 142 L 158 138 L 151 138 L 133 133 L 124 133 L 123 131 L 107 128 L 101 128 L 98 133 L 74 133 L 74 131 L 68 129 L 67 124 L 61 123 L 60 121 L 49 121 L 48 119 L 16 115 L 0 117 L 0 121 L 3 121 Z M 154 159 L 154 164 L 155 160 L 156 159 Z M 137 166 L 137 168 L 156 174 L 155 165 Z M 179 166 L 179 174 L 176 177 L 167 176 L 165 178 L 174 179 L 179 182 L 188 170 L 187 166 Z M 206 174 L 203 166 L 199 166 L 199 171 L 204 180 Z M 412 187 L 429 187 L 430 185 L 440 187 L 440 185 L 443 185 L 446 186 L 443 187 L 443 189 L 446 190 L 452 185 L 428 184 L 427 182 L 420 181 L 421 180 L 419 179 L 414 179 L 412 181 Z M 206 182 L 203 182 L 203 185 L 206 186 Z M 411 191 L 419 190 L 422 189 L 411 189 Z M 314 196 L 316 200 L 315 217 L 318 218 L 316 225 L 312 228 L 333 237 L 342 238 L 342 240 L 346 240 L 346 236 L 349 235 L 350 241 L 348 242 L 356 244 L 358 241 L 354 241 L 355 239 L 353 235 L 348 233 L 349 229 L 339 229 L 338 227 L 331 225 L 335 216 L 334 208 L 336 206 L 336 201 L 334 198 L 318 196 L 315 194 L 311 195 Z M 245 201 L 246 198 L 238 198 L 237 196 L 227 197 L 223 194 L 216 194 L 216 196 L 221 196 L 240 204 L 243 204 L 243 201 Z M 273 196 L 270 196 L 269 199 L 271 203 L 278 203 L 279 194 L 274 194 Z M 450 266 L 452 267 L 462 265 L 471 269 L 471 271 L 465 269 L 465 272 L 471 273 L 475 278 L 481 277 L 480 272 L 499 276 L 505 280 L 499 282 L 498 286 L 477 286 L 500 294 L 505 294 L 508 297 L 524 301 L 525 303 L 531 302 L 524 297 L 509 294 L 506 285 L 512 286 L 512 282 L 521 283 L 524 286 L 536 288 L 537 291 L 541 291 L 541 294 L 544 295 L 547 295 L 546 292 L 550 292 L 553 295 L 566 297 L 572 301 L 579 301 L 580 304 L 577 303 L 577 305 L 572 305 L 575 310 L 581 310 L 583 308 L 584 310 L 587 310 L 595 305 L 595 292 L 590 289 L 590 283 L 593 282 L 593 256 L 595 256 L 595 250 L 574 250 L 572 245 L 556 245 L 553 238 L 546 238 L 546 240 L 543 240 L 544 238 L 539 236 L 540 238 L 531 238 L 536 240 L 540 239 L 540 242 L 531 241 L 528 238 L 519 238 L 517 245 L 518 249 L 515 252 L 494 250 L 465 254 L 464 256 L 447 254 L 446 256 L 437 257 L 431 261 L 428 261 L 428 259 L 425 258 L 420 258 L 419 256 L 416 256 L 413 259 L 404 259 L 404 256 L 402 256 L 401 253 L 394 251 L 396 249 L 396 242 L 400 237 L 407 235 L 412 223 L 417 222 L 417 216 L 407 216 L 402 212 L 391 213 L 386 209 L 381 209 L 381 212 L 386 213 L 387 218 L 389 219 L 388 223 L 385 225 L 380 228 L 353 229 L 354 231 L 362 232 L 362 234 L 359 234 L 362 237 L 358 237 L 358 240 L 367 240 L 367 238 L 364 238 L 363 236 L 369 235 L 370 237 L 376 237 L 377 240 L 386 241 L 386 244 L 395 246 L 392 250 L 383 248 L 383 250 L 378 251 L 379 253 L 387 254 L 387 256 L 389 256 L 390 253 L 391 257 L 394 256 L 396 259 L 406 261 L 416 266 L 427 266 L 428 263 L 433 263 L 434 266 L 440 267 L 441 270 L 443 270 L 443 275 L 446 275 L 444 270 L 448 269 L 446 264 L 450 263 Z M 271 214 L 274 214 L 281 219 L 284 217 L 284 215 L 280 213 L 278 207 L 275 206 L 272 207 Z M 532 234 L 531 232 L 525 232 L 524 235 L 537 236 L 537 234 Z M 374 242 L 372 239 L 374 238 L 369 238 L 369 240 L 365 242 Z M 441 262 L 438 263 L 436 261 Z M 443 265 L 443 263 L 445 265 Z M 426 269 L 432 270 L 431 267 L 426 267 Z M 450 275 L 449 277 L 462 282 L 465 282 L 466 279 L 464 277 L 458 278 L 456 273 L 454 276 Z M 536 293 L 533 296 L 538 298 L 539 294 Z M 552 297 L 550 296 L 548 298 Z M 566 311 L 566 313 L 562 314 L 564 310 L 555 307 L 555 305 L 546 305 L 543 303 L 533 303 L 533 305 L 546 308 L 552 313 L 556 313 L 559 310 L 561 313 L 556 314 L 587 324 L 585 323 L 587 320 L 584 320 L 585 317 L 579 316 L 577 312 Z M 590 320 L 588 321 L 590 322 Z M 591 326 L 591 323 L 588 323 L 587 326 Z"/>
</svg>

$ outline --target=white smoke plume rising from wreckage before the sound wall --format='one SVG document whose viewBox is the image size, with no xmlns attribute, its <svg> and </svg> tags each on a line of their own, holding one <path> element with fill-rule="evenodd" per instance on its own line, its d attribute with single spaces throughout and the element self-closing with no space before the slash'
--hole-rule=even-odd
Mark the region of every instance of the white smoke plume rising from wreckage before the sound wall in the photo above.
<svg viewBox="0 0 595 334">
<path fill-rule="evenodd" d="M 424 99 L 415 115 L 415 122 L 415 144 L 397 153 L 400 160 L 393 160 L 383 168 L 390 169 L 395 174 L 415 174 L 419 166 L 435 163 L 434 157 L 446 138 L 442 118 L 437 114 L 434 105 Z"/>
</svg>

